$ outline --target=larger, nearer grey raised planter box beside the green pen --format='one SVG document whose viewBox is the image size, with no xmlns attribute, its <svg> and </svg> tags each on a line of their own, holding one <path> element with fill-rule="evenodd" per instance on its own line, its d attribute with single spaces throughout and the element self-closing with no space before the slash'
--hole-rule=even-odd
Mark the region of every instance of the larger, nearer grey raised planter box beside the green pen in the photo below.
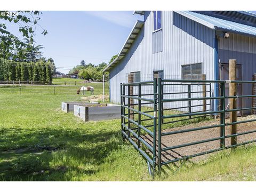
<svg viewBox="0 0 256 192">
<path fill-rule="evenodd" d="M 74 105 L 74 115 L 84 121 L 100 121 L 103 119 L 121 118 L 121 107 L 110 103 L 91 106 Z"/>
</svg>

